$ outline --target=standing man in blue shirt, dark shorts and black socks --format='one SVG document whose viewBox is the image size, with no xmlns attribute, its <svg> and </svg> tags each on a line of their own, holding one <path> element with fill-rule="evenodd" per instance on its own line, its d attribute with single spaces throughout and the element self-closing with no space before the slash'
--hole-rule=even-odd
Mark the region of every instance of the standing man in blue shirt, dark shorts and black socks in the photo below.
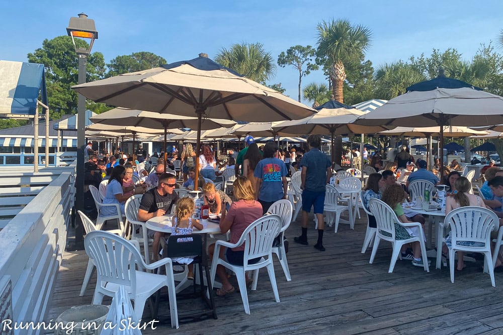
<svg viewBox="0 0 503 335">
<path fill-rule="evenodd" d="M 323 247 L 323 231 L 325 222 L 323 221 L 323 204 L 325 202 L 325 185 L 330 181 L 332 175 L 331 163 L 325 154 L 319 151 L 321 138 L 318 135 L 310 135 L 307 139 L 309 152 L 302 156 L 300 162 L 302 189 L 302 235 L 294 238 L 296 243 L 308 245 L 307 242 L 307 222 L 311 207 L 314 207 L 314 214 L 318 219 L 318 241 L 314 248 L 325 251 Z"/>
</svg>

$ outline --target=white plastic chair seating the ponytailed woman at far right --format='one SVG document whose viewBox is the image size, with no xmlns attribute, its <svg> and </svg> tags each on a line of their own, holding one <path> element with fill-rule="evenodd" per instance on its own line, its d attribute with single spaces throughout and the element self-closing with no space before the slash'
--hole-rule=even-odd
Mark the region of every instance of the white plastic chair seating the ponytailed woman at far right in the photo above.
<svg viewBox="0 0 503 335">
<path fill-rule="evenodd" d="M 491 231 L 498 230 L 499 219 L 490 209 L 479 206 L 465 206 L 453 209 L 446 215 L 444 223 L 440 223 L 439 241 L 445 241 L 444 229 L 451 227 L 451 243 L 449 249 L 449 265 L 451 271 L 451 282 L 454 283 L 454 254 L 456 251 L 465 251 L 468 253 L 481 253 L 484 255 L 484 272 L 489 270 L 491 284 L 494 282 L 494 264 L 496 259 L 491 255 Z M 498 235 L 503 235 L 500 231 Z M 478 242 L 480 247 L 467 247 L 459 245 L 460 242 Z M 499 239 L 499 242 L 501 240 Z M 497 242 L 496 242 L 497 243 Z M 494 255 L 497 257 L 499 246 L 496 244 Z M 437 248 L 437 268 L 440 269 L 442 257 L 442 245 Z"/>
</svg>

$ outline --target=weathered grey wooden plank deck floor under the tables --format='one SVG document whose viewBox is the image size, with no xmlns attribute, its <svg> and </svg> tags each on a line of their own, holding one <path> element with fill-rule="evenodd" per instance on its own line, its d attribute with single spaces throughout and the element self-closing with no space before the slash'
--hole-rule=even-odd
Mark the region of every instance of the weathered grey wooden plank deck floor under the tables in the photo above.
<svg viewBox="0 0 503 335">
<path fill-rule="evenodd" d="M 300 215 L 299 215 L 300 216 Z M 501 334 L 503 333 L 503 271 L 496 271 L 496 288 L 489 276 L 479 271 L 481 262 L 467 263 L 456 272 L 455 282 L 449 269 L 430 273 L 414 267 L 410 261 L 398 261 L 388 273 L 389 244 L 382 243 L 374 264 L 370 250 L 361 254 L 366 217 L 357 221 L 355 230 L 340 225 L 339 232 L 327 228 L 325 252 L 315 250 L 317 234 L 308 232 L 309 246 L 296 245 L 298 221 L 292 222 L 288 263 L 292 281 L 287 282 L 275 262 L 280 303 L 274 301 L 266 271 L 259 275 L 256 291 L 248 291 L 251 315 L 243 310 L 239 293 L 217 297 L 218 319 L 182 323 L 172 329 L 167 320 L 168 304 L 161 302 L 155 330 L 143 334 Z M 49 318 L 56 318 L 70 306 L 90 304 L 96 283 L 92 279 L 86 295 L 78 297 L 88 258 L 85 252 L 66 252 L 55 288 Z M 235 285 L 235 278 L 231 279 Z M 236 286 L 237 287 L 237 286 Z M 105 304 L 110 304 L 110 299 Z M 199 299 L 179 299 L 179 312 L 202 308 Z M 145 308 L 144 321 L 150 320 Z"/>
</svg>

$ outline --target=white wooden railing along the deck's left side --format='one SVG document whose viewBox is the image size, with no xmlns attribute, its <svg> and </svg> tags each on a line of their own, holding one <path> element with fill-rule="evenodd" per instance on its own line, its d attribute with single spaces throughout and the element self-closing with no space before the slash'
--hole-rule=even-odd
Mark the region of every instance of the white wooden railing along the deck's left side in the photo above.
<svg viewBox="0 0 503 335">
<path fill-rule="evenodd" d="M 0 231 L 0 281 L 10 281 L 12 287 L 13 322 L 40 322 L 47 313 L 61 262 L 60 250 L 66 245 L 66 227 L 74 199 L 75 163 L 67 168 L 44 169 L 31 176 L 21 174 L 10 179 L 2 174 L 0 183 L 19 181 L 9 187 L 38 194 L 29 195 L 27 198 L 31 201 Z M 41 186 L 48 181 L 47 186 Z M 14 188 L 7 193 L 16 193 Z M 0 199 L 3 203 L 6 197 Z M 15 330 L 14 333 L 31 334 L 36 330 Z"/>
</svg>

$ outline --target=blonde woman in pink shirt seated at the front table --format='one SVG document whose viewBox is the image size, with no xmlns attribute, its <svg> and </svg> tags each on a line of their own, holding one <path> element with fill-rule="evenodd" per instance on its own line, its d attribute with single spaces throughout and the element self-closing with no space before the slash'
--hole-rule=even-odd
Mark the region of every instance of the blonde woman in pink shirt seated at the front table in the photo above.
<svg viewBox="0 0 503 335">
<path fill-rule="evenodd" d="M 262 205 L 255 200 L 254 189 L 246 177 L 238 177 L 232 186 L 237 201 L 232 202 L 227 212 L 225 210 L 226 206 L 222 206 L 220 232 L 225 234 L 230 229 L 230 243 L 236 243 L 241 238 L 244 230 L 262 216 Z M 208 252 L 210 258 L 213 259 L 215 244 L 209 247 Z M 231 264 L 243 265 L 244 244 L 236 248 L 220 248 L 218 256 Z M 255 264 L 259 260 L 260 258 L 249 260 L 248 264 Z M 225 268 L 218 265 L 216 273 L 222 283 L 222 288 L 217 290 L 217 295 L 224 296 L 227 293 L 234 292 L 234 286 L 229 282 Z M 251 279 L 246 280 L 246 284 L 249 283 L 251 283 Z"/>
</svg>

